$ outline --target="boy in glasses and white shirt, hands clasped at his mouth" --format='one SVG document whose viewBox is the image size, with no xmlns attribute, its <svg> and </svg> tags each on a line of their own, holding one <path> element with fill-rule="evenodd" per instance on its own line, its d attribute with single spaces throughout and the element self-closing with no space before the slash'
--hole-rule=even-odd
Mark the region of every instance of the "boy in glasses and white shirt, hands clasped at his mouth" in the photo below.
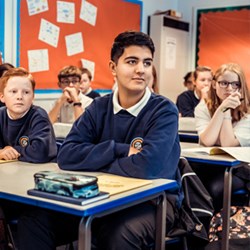
<svg viewBox="0 0 250 250">
<path fill-rule="evenodd" d="M 80 91 L 81 70 L 66 66 L 58 74 L 58 85 L 63 93 L 49 112 L 52 123 L 73 123 L 92 102 L 92 98 Z"/>
</svg>

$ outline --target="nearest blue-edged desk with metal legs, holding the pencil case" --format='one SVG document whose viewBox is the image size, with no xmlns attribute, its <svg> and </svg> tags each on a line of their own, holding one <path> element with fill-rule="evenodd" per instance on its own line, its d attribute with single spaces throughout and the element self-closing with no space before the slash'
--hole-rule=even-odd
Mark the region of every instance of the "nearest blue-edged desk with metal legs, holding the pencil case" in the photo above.
<svg viewBox="0 0 250 250">
<path fill-rule="evenodd" d="M 33 175 L 42 170 L 62 171 L 56 163 L 31 164 L 18 161 L 0 164 L 0 198 L 82 217 L 78 235 L 78 249 L 81 250 L 91 248 L 91 222 L 94 218 L 102 217 L 154 198 L 159 198 L 156 212 L 156 249 L 165 249 L 165 191 L 176 189 L 176 181 L 166 179 L 153 180 L 150 185 L 113 195 L 108 199 L 85 206 L 78 206 L 29 196 L 27 190 L 34 188 Z M 84 174 L 95 174 L 98 176 L 98 173 L 92 172 L 84 172 Z"/>
</svg>

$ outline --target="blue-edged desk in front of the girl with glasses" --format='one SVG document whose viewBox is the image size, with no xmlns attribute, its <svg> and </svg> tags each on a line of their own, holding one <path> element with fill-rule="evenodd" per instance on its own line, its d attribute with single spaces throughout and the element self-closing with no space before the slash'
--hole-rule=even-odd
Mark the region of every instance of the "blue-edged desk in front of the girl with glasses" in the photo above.
<svg viewBox="0 0 250 250">
<path fill-rule="evenodd" d="M 182 144 L 181 144 L 182 145 Z M 230 226 L 230 206 L 232 192 L 232 171 L 241 165 L 241 162 L 229 155 L 208 155 L 197 152 L 183 150 L 181 155 L 190 162 L 207 163 L 218 167 L 225 167 L 224 192 L 223 192 L 223 231 L 222 231 L 222 250 L 229 249 L 229 226 Z M 202 167 L 202 164 L 201 164 Z"/>
</svg>

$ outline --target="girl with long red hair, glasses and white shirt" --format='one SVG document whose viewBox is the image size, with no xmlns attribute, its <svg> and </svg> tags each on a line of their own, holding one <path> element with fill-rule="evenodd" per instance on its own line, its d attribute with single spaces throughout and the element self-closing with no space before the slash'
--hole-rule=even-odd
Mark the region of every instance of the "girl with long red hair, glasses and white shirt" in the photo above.
<svg viewBox="0 0 250 250">
<path fill-rule="evenodd" d="M 249 147 L 250 94 L 242 68 L 235 63 L 221 65 L 215 72 L 208 94 L 208 98 L 195 109 L 200 144 L 208 147 Z M 217 207 L 221 208 L 224 171 L 219 174 L 217 168 L 216 176 L 213 175 L 211 180 L 207 174 L 204 180 L 215 203 L 218 201 Z M 250 173 L 245 177 L 249 179 Z M 233 189 L 244 185 L 240 178 L 233 177 Z"/>
</svg>

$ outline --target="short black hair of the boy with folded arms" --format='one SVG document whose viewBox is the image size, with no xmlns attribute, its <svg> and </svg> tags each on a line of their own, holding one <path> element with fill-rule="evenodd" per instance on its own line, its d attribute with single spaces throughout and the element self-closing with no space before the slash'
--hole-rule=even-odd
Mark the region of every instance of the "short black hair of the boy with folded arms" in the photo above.
<svg viewBox="0 0 250 250">
<path fill-rule="evenodd" d="M 129 46 L 145 46 L 148 47 L 154 56 L 155 46 L 153 40 L 147 34 L 139 31 L 125 31 L 120 33 L 114 40 L 111 49 L 111 60 L 115 63 L 124 53 L 125 48 Z"/>
</svg>

